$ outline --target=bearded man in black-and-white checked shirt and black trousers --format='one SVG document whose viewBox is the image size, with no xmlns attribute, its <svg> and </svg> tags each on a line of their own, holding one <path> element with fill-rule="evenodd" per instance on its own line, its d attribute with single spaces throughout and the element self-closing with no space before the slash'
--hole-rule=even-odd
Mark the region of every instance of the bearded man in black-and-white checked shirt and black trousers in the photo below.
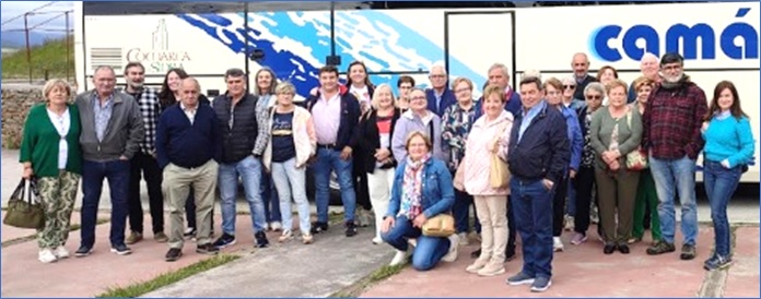
<svg viewBox="0 0 761 299">
<path fill-rule="evenodd" d="M 151 208 L 153 224 L 153 239 L 163 243 L 168 241 L 164 234 L 164 198 L 161 190 L 162 171 L 159 168 L 155 153 L 156 123 L 161 108 L 159 94 L 151 87 L 143 86 L 145 81 L 145 68 L 140 62 L 129 62 L 125 67 L 125 80 L 127 87 L 125 93 L 138 101 L 142 116 L 145 134 L 140 142 L 140 151 L 130 162 L 129 182 L 129 227 L 131 234 L 125 243 L 133 244 L 142 240 L 143 210 L 140 199 L 140 178 L 145 179 L 148 186 L 148 200 Z"/>
</svg>

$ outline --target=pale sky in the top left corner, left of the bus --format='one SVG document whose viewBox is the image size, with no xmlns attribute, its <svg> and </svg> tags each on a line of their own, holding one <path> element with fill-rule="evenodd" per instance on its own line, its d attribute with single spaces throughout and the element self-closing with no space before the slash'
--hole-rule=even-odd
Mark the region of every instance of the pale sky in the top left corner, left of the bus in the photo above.
<svg viewBox="0 0 761 299">
<path fill-rule="evenodd" d="M 38 12 L 44 13 L 44 12 L 57 12 L 57 11 L 67 11 L 71 10 L 74 7 L 74 1 L 2 1 L 0 2 L 0 22 L 5 23 L 5 21 L 11 20 L 13 17 L 16 17 L 19 15 L 22 15 L 26 12 L 30 12 L 32 10 L 35 10 L 42 5 L 45 5 L 47 3 L 55 2 L 49 7 L 45 7 L 44 9 L 38 10 Z M 57 13 L 46 13 L 46 14 L 38 14 L 38 15 L 31 15 L 28 20 L 28 25 L 30 27 L 35 26 L 39 24 L 40 22 L 44 22 L 50 17 L 56 16 Z M 69 20 L 73 20 L 73 15 L 69 15 Z M 70 23 L 72 24 L 72 23 Z M 72 24 L 73 26 L 73 24 Z M 1 31 L 8 31 L 8 29 L 16 29 L 16 28 L 24 28 L 24 17 L 19 17 L 14 21 L 11 21 L 8 24 L 3 24 L 1 26 Z M 66 28 L 66 19 L 61 15 L 60 17 L 42 25 L 40 28 L 52 28 L 52 29 L 65 29 Z"/>
</svg>

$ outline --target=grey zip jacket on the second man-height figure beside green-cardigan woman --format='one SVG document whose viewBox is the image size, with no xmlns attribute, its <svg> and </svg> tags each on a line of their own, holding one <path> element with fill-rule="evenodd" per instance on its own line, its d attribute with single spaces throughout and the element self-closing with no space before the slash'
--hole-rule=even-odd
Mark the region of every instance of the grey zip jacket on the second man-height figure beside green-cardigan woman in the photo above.
<svg viewBox="0 0 761 299">
<path fill-rule="evenodd" d="M 82 157 L 93 162 L 115 160 L 120 156 L 131 159 L 140 151 L 144 133 L 138 101 L 128 94 L 115 91 L 112 117 L 103 141 L 98 141 L 95 133 L 94 96 L 95 92 L 90 91 L 78 95 L 75 99 L 82 121 Z"/>
</svg>

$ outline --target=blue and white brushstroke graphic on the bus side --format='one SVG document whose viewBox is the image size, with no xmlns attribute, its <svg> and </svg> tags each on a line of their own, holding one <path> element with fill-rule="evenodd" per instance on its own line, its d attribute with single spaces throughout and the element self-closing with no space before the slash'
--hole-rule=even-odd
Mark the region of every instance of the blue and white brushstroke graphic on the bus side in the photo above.
<svg viewBox="0 0 761 299">
<path fill-rule="evenodd" d="M 293 83 L 297 94 L 305 96 L 319 85 L 319 68 L 330 55 L 330 36 L 326 34 L 330 28 L 328 15 L 329 12 L 270 12 L 236 14 L 239 19 L 214 13 L 177 14 L 177 17 L 235 53 L 248 56 L 255 49 L 262 51 L 265 58 L 260 63 L 274 70 L 278 79 Z M 245 17 L 248 17 L 247 28 Z M 442 47 L 382 12 L 337 12 L 336 22 L 336 55 L 341 57 L 341 71 L 354 60 L 365 62 L 370 72 L 428 70 L 431 63 L 444 60 Z M 410 52 L 413 57 L 409 57 Z M 483 75 L 459 60 L 449 62 L 457 75 L 485 82 Z M 388 82 L 396 87 L 398 76 L 373 75 L 371 81 Z"/>
</svg>

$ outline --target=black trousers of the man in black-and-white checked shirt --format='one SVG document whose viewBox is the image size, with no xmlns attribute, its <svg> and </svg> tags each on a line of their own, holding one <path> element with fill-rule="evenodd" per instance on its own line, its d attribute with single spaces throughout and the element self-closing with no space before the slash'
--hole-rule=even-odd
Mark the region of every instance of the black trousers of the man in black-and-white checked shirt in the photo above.
<svg viewBox="0 0 761 299">
<path fill-rule="evenodd" d="M 143 208 L 140 199 L 140 179 L 148 186 L 148 202 L 151 210 L 153 234 L 164 231 L 164 196 L 161 190 L 162 171 L 159 162 L 151 156 L 138 152 L 130 160 L 129 176 L 129 227 L 131 231 L 143 232 Z"/>
</svg>

